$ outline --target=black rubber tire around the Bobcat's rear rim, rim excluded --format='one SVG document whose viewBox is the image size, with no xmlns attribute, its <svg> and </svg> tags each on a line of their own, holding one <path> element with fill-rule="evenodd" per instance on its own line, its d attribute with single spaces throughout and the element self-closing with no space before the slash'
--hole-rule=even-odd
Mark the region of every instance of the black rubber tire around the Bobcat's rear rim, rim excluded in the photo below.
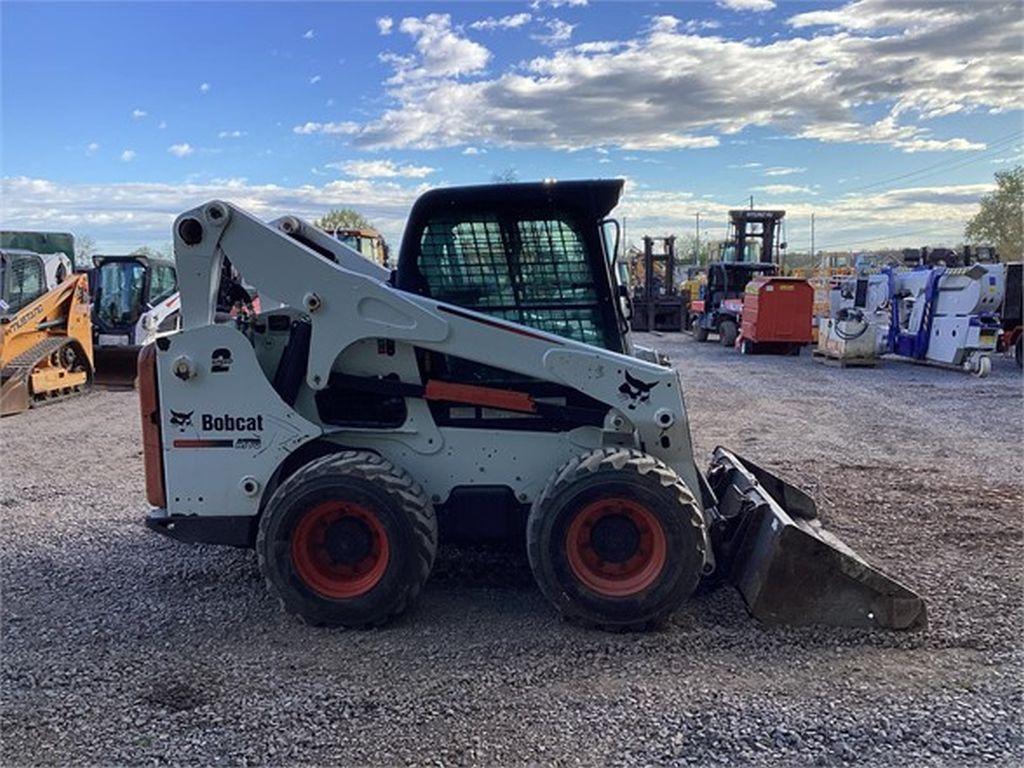
<svg viewBox="0 0 1024 768">
<path fill-rule="evenodd" d="M 316 593 L 292 561 L 296 524 L 313 505 L 331 499 L 372 509 L 387 535 L 384 574 L 358 597 Z M 346 451 L 311 461 L 278 487 L 260 518 L 256 553 L 270 593 L 287 612 L 317 627 L 376 627 L 403 612 L 423 589 L 437 553 L 437 518 L 408 473 L 376 454 Z"/>
</svg>

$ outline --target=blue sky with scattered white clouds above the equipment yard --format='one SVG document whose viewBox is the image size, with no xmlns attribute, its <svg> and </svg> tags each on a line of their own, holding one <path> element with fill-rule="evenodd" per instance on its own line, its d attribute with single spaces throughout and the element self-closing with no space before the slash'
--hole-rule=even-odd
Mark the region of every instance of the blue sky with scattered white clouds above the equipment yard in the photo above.
<svg viewBox="0 0 1024 768">
<path fill-rule="evenodd" d="M 5 3 L 4 226 L 161 245 L 212 197 L 362 210 L 622 176 L 631 230 L 952 243 L 1020 162 L 1016 2 Z"/>
</svg>

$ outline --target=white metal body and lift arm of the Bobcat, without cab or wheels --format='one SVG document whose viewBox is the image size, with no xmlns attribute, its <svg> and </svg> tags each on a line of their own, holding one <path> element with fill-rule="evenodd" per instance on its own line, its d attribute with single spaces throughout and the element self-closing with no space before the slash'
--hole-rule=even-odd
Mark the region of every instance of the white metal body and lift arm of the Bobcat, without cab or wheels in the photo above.
<svg viewBox="0 0 1024 768">
<path fill-rule="evenodd" d="M 329 246 L 326 239 L 318 245 Z M 171 422 L 172 412 L 195 411 L 191 392 L 200 381 L 206 412 L 261 413 L 264 423 L 287 424 L 288 428 L 270 437 L 270 444 L 261 437 L 258 450 L 234 451 L 231 457 L 237 462 L 229 457 L 227 463 L 238 466 L 236 480 L 228 484 L 238 486 L 252 477 L 259 487 L 254 495 L 241 489 L 217 493 L 225 484 L 223 467 L 210 472 L 204 466 L 203 452 L 193 447 L 205 445 L 197 441 L 208 432 L 224 440 L 223 432 L 237 430 L 207 430 L 200 422 L 188 426 L 188 437 L 165 438 L 167 484 L 187 482 L 197 488 L 188 497 L 169 495 L 167 514 L 255 515 L 282 463 L 315 440 L 373 450 L 400 462 L 424 478 L 437 503 L 447 501 L 455 488 L 485 484 L 507 487 L 518 503 L 528 504 L 543 488 L 551 467 L 581 449 L 604 444 L 646 450 L 672 467 L 689 487 L 701 487 L 675 371 L 397 291 L 369 276 L 368 262 L 356 252 L 339 243 L 331 247 L 336 260 L 221 202 L 179 218 L 175 253 L 183 331 L 158 340 L 163 434 L 182 433 L 182 425 Z M 272 286 L 273 298 L 286 309 L 271 314 L 265 325 L 244 331 L 214 325 L 217 278 L 224 257 L 251 284 Z M 280 269 L 282 263 L 289 265 L 287 270 Z M 308 346 L 303 346 L 300 355 L 307 365 L 304 386 L 297 388 L 294 404 L 290 404 L 271 380 L 282 356 L 289 353 L 289 342 L 295 341 L 296 322 L 308 322 Z M 250 335 L 260 337 L 261 343 L 254 347 Z M 210 361 L 217 350 L 227 350 L 232 360 L 230 371 L 220 375 L 211 373 Z M 293 346 L 291 353 L 295 350 Z M 323 399 L 332 386 L 344 385 L 350 392 L 360 384 L 333 376 L 339 354 L 346 370 L 366 372 L 364 388 L 374 379 L 387 377 L 415 386 L 421 383 L 418 350 L 508 372 L 521 380 L 524 389 L 428 380 L 423 397 L 408 392 L 393 395 L 406 400 L 400 424 L 345 428 L 325 423 L 317 394 Z M 460 385 L 464 388 L 455 389 Z M 248 391 L 240 396 L 239 390 Z M 562 401 L 566 397 L 586 400 L 588 408 L 566 408 Z M 558 407 L 548 409 L 545 399 L 550 398 Z M 475 409 L 479 418 L 464 420 L 465 427 L 454 426 L 460 420 L 450 418 L 452 426 L 440 426 L 428 404 L 438 402 Z M 521 421 L 514 424 L 515 417 L 525 420 L 529 428 L 523 429 Z M 195 422 L 200 416 L 193 418 Z M 504 418 L 519 428 L 495 429 L 494 420 Z M 551 439 L 553 430 L 555 439 Z M 440 452 L 452 451 L 453 444 L 461 455 L 452 460 L 459 467 L 450 473 L 453 476 L 442 477 L 427 468 Z M 523 457 L 521 461 L 529 466 L 509 462 L 509 455 Z M 462 461 L 463 456 L 473 458 Z M 420 474 L 417 469 L 422 470 Z M 481 478 L 485 483 L 480 483 Z"/>
</svg>

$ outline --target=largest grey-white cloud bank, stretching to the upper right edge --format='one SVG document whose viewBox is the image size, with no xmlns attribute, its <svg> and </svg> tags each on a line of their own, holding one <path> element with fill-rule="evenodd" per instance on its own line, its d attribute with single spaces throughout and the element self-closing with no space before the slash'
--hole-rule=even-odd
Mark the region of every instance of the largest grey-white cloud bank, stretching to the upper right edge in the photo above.
<svg viewBox="0 0 1024 768">
<path fill-rule="evenodd" d="M 404 19 L 415 49 L 385 57 L 394 68 L 385 93 L 393 105 L 351 133 L 368 148 L 658 150 L 713 145 L 722 136 L 771 128 L 819 141 L 951 152 L 980 144 L 935 135 L 925 120 L 1024 106 L 1024 19 L 1011 4 L 986 5 L 980 13 L 950 0 L 901 0 L 899 18 L 927 24 L 896 27 L 889 7 L 857 0 L 827 17 L 867 33 L 813 30 L 769 43 L 694 34 L 662 17 L 636 37 L 585 42 L 498 73 L 484 73 L 489 52 L 453 30 L 446 15 Z M 790 22 L 814 27 L 822 18 L 800 14 Z M 435 38 L 460 55 L 443 56 L 447 46 L 430 48 Z M 752 82 L 758 87 L 736 87 Z M 868 122 L 868 112 L 888 117 Z M 611 114 L 629 119 L 610 120 Z"/>
</svg>

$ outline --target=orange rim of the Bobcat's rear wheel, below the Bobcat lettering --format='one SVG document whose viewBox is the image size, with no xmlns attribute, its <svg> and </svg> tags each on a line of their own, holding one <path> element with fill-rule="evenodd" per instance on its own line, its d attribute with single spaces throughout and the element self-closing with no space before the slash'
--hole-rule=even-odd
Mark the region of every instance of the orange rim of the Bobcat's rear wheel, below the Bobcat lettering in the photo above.
<svg viewBox="0 0 1024 768">
<path fill-rule="evenodd" d="M 387 531 L 361 504 L 324 502 L 292 534 L 292 563 L 309 589 L 337 600 L 377 586 L 390 558 Z"/>
</svg>

